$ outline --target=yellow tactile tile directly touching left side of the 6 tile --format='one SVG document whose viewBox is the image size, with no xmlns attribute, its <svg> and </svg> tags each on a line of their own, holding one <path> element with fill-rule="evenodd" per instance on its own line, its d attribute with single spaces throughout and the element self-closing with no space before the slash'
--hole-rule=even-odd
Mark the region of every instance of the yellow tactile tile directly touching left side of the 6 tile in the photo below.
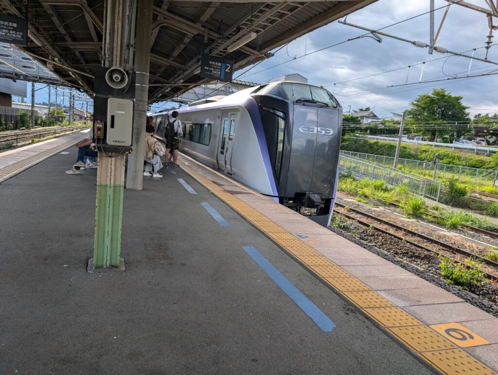
<svg viewBox="0 0 498 375">
<path fill-rule="evenodd" d="M 395 327 L 387 329 L 414 352 L 456 349 L 456 346 L 427 326 Z"/>
</svg>

